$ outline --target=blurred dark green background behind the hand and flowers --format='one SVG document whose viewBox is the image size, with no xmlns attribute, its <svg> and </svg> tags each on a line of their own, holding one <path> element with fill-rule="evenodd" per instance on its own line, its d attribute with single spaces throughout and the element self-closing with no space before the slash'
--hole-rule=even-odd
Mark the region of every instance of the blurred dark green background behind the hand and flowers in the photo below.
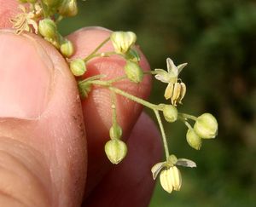
<svg viewBox="0 0 256 207">
<path fill-rule="evenodd" d="M 150 207 L 256 206 L 256 2 L 87 0 L 79 6 L 62 32 L 83 26 L 136 32 L 153 69 L 166 68 L 166 57 L 189 62 L 181 74 L 188 93 L 180 111 L 218 118 L 217 139 L 204 141 L 199 152 L 186 144 L 183 124 L 166 125 L 175 138 L 172 152 L 198 168 L 182 169 L 179 193 L 169 195 L 158 183 Z M 151 101 L 164 101 L 165 87 L 155 82 Z"/>
</svg>

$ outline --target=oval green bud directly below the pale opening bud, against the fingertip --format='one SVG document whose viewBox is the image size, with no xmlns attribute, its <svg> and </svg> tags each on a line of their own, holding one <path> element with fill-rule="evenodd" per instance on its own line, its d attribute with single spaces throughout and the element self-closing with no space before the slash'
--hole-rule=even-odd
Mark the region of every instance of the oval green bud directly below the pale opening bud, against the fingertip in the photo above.
<svg viewBox="0 0 256 207">
<path fill-rule="evenodd" d="M 140 83 L 143 80 L 143 69 L 135 62 L 126 62 L 125 74 L 134 83 Z"/>
</svg>

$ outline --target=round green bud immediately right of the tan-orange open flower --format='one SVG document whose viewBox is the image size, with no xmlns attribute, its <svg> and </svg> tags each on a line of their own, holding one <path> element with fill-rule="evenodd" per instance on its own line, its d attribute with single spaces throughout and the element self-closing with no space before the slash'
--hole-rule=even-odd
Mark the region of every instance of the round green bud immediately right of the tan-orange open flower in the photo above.
<svg viewBox="0 0 256 207">
<path fill-rule="evenodd" d="M 50 19 L 44 19 L 39 21 L 38 26 L 39 33 L 46 38 L 55 39 L 57 27 L 55 22 Z"/>
</svg>

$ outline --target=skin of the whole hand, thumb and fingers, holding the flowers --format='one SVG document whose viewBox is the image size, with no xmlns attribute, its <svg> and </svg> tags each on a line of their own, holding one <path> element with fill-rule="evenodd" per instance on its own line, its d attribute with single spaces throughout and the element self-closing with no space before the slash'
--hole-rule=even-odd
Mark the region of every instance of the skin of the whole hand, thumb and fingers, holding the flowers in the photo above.
<svg viewBox="0 0 256 207">
<path fill-rule="evenodd" d="M 121 164 L 110 164 L 103 151 L 112 124 L 108 90 L 96 87 L 80 101 L 62 56 L 41 37 L 9 29 L 16 7 L 15 0 L 0 0 L 0 205 L 148 206 L 150 168 L 161 152 L 153 121 L 141 106 L 118 96 L 129 152 Z M 73 32 L 73 58 L 90 54 L 109 33 L 99 27 Z M 109 50 L 110 43 L 102 49 Z M 119 77 L 124 64 L 118 57 L 91 60 L 86 76 Z M 149 69 L 144 56 L 141 66 Z M 151 80 L 116 87 L 146 98 Z"/>
</svg>

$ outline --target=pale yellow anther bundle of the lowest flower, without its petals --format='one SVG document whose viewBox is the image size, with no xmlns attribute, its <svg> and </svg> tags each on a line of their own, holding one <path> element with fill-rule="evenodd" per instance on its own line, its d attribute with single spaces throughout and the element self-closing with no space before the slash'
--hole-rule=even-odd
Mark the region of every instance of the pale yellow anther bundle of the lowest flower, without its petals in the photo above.
<svg viewBox="0 0 256 207">
<path fill-rule="evenodd" d="M 182 177 L 176 166 L 161 171 L 160 184 L 168 193 L 172 193 L 172 190 L 179 191 L 182 185 Z"/>
</svg>

